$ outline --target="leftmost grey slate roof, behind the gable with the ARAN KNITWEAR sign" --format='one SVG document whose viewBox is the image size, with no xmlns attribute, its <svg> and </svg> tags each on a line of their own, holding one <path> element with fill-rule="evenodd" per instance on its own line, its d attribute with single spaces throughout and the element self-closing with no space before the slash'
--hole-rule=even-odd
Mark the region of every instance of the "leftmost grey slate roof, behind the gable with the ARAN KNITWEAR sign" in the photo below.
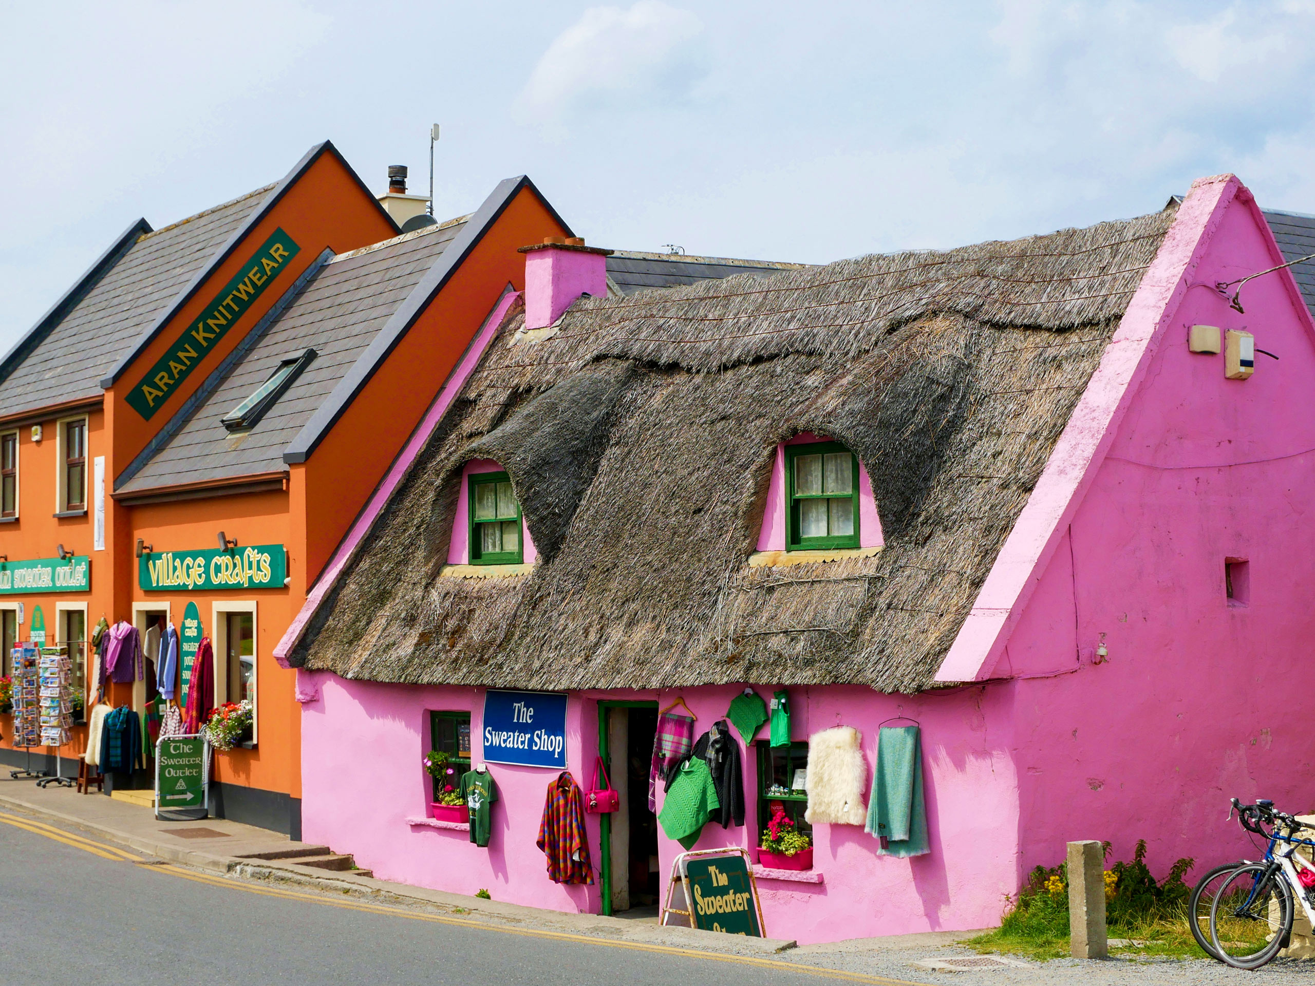
<svg viewBox="0 0 1315 986">
<path fill-rule="evenodd" d="M 100 397 L 100 380 L 274 188 L 141 237 L 0 383 L 0 415 Z M 38 323 L 37 331 L 41 330 Z M 32 344 L 30 338 L 17 348 Z"/>
</svg>

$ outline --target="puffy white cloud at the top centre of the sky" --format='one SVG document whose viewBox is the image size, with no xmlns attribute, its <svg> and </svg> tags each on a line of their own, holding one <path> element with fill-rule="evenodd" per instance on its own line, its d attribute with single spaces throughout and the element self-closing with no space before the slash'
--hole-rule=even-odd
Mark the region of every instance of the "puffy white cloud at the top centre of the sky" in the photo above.
<svg viewBox="0 0 1315 986">
<path fill-rule="evenodd" d="M 517 100 L 522 122 L 560 129 L 590 109 L 688 100 L 706 75 L 702 21 L 660 0 L 592 7 L 534 66 Z"/>
</svg>

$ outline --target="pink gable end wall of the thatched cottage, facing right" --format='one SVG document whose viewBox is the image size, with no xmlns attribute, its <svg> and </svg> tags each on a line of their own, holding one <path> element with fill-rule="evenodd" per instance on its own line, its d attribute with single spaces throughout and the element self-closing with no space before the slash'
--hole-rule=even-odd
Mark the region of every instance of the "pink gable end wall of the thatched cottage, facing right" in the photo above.
<svg viewBox="0 0 1315 986">
<path fill-rule="evenodd" d="M 1230 797 L 1315 807 L 1315 337 L 1286 272 L 1247 285 L 1245 314 L 1211 287 L 1281 262 L 1243 191 L 995 668 L 1059 672 L 1007 686 L 1024 866 L 1072 839 L 1116 858 L 1147 839 L 1157 873 L 1194 856 L 1199 874 L 1253 852 Z M 1194 323 L 1245 327 L 1281 360 L 1224 380 L 1223 355 L 1189 352 Z M 1251 563 L 1247 606 L 1226 599 L 1226 557 Z"/>
</svg>

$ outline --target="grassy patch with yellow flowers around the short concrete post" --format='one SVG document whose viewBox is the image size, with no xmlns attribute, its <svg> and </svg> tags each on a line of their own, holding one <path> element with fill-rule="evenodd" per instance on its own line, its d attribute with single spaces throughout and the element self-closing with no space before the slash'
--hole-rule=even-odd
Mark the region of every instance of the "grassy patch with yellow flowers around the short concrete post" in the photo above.
<svg viewBox="0 0 1315 986">
<path fill-rule="evenodd" d="M 1141 948 L 1111 948 L 1115 954 L 1207 958 L 1187 923 L 1190 887 L 1182 877 L 1193 860 L 1178 860 L 1162 882 L 1145 865 L 1145 841 L 1132 862 L 1115 862 L 1105 874 L 1106 920 L 1111 939 L 1144 941 Z M 1106 857 L 1110 847 L 1106 843 Z M 1038 866 L 1013 899 L 1001 927 L 963 943 L 981 953 L 1003 952 L 1035 960 L 1069 957 L 1068 874 L 1063 864 Z"/>
</svg>

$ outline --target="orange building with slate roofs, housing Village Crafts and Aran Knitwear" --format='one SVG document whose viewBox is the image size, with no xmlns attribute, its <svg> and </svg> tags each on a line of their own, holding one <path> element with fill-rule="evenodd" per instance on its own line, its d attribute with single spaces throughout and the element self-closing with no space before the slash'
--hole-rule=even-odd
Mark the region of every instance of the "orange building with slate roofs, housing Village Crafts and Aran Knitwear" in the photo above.
<svg viewBox="0 0 1315 986">
<path fill-rule="evenodd" d="M 389 177 L 371 195 L 326 142 L 276 185 L 162 230 L 141 220 L 0 363 L 5 673 L 13 642 L 45 626 L 89 703 L 91 631 L 124 621 L 150 636 L 143 676 L 104 698 L 141 713 L 158 628 L 180 638 L 179 698 L 208 638 L 213 702 L 255 713 L 250 739 L 216 757 L 212 811 L 293 837 L 300 707 L 275 643 L 469 342 L 523 288 L 517 248 L 572 235 L 526 177 L 447 222 Z M 618 252 L 609 291 L 777 267 Z M 0 732 L 0 761 L 24 765 L 3 716 Z M 64 774 L 85 732 L 59 751 Z M 32 752 L 54 768 L 54 751 Z M 107 774 L 107 790 L 151 787 L 150 766 Z"/>
</svg>

